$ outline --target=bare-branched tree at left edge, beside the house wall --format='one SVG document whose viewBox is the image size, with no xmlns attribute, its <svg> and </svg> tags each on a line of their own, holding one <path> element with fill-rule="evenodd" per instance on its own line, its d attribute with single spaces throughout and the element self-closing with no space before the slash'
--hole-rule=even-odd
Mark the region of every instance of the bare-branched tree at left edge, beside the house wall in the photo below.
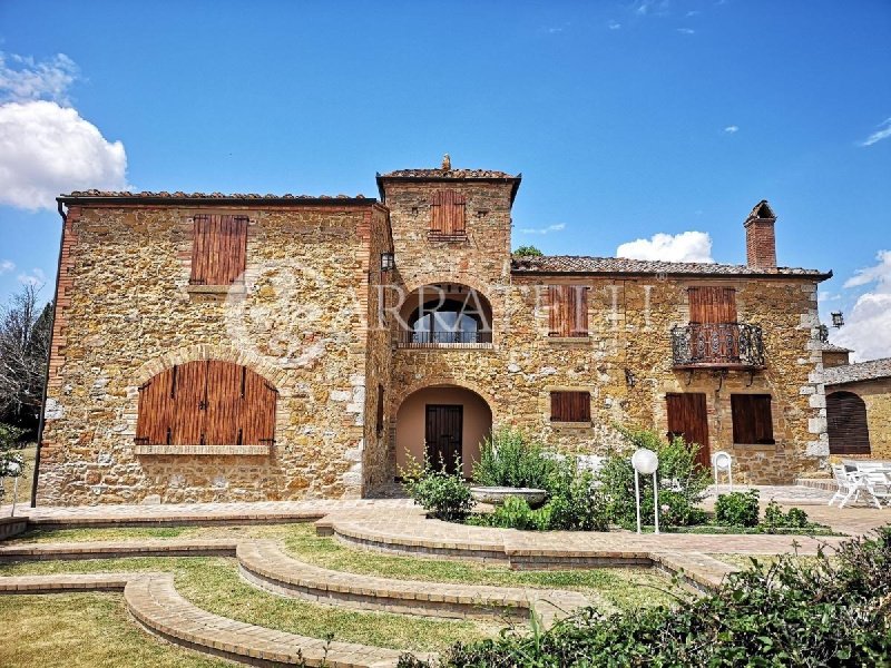
<svg viewBox="0 0 891 668">
<path fill-rule="evenodd" d="M 43 399 L 52 305 L 26 285 L 0 306 L 0 420 L 33 430 Z"/>
</svg>

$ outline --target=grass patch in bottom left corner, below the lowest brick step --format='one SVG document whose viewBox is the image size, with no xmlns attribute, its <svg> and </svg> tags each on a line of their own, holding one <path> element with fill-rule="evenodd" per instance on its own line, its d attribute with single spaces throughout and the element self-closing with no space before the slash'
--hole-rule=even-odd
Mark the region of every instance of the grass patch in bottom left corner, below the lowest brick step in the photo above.
<svg viewBox="0 0 891 668">
<path fill-rule="evenodd" d="M 224 668 L 232 664 L 161 642 L 115 593 L 0 597 L 0 666 Z"/>
</svg>

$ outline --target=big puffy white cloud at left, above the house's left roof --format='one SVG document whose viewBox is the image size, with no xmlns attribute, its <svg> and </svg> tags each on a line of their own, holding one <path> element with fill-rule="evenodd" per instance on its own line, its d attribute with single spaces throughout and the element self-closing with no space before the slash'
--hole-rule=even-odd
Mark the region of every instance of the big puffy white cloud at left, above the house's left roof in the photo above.
<svg viewBox="0 0 891 668">
<path fill-rule="evenodd" d="M 0 106 L 0 204 L 56 207 L 60 193 L 124 189 L 127 155 L 75 109 L 56 102 Z"/>
</svg>

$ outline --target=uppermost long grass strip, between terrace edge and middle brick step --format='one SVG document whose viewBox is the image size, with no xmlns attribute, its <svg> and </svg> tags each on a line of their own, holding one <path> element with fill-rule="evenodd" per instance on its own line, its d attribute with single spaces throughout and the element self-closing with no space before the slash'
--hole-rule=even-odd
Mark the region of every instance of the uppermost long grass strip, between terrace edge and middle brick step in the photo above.
<svg viewBox="0 0 891 668">
<path fill-rule="evenodd" d="M 513 571 L 506 566 L 395 557 L 358 550 L 315 534 L 310 523 L 246 527 L 161 527 L 63 529 L 29 531 L 9 541 L 63 542 L 81 540 L 164 538 L 268 538 L 284 543 L 295 558 L 332 570 L 429 582 L 459 582 L 497 587 L 570 589 L 587 596 L 605 612 L 672 605 L 679 590 L 665 574 L 649 569 L 601 568 L 566 571 Z"/>
</svg>

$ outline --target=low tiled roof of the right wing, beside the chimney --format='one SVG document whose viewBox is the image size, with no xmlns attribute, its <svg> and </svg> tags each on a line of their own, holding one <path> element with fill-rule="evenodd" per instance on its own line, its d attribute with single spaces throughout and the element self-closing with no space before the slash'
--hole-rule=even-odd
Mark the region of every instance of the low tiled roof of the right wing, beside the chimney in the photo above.
<svg viewBox="0 0 891 668">
<path fill-rule="evenodd" d="M 797 267 L 761 268 L 705 262 L 663 262 L 581 255 L 520 256 L 511 261 L 517 274 L 668 274 L 703 276 L 785 276 L 824 281 L 832 272 Z"/>
</svg>

